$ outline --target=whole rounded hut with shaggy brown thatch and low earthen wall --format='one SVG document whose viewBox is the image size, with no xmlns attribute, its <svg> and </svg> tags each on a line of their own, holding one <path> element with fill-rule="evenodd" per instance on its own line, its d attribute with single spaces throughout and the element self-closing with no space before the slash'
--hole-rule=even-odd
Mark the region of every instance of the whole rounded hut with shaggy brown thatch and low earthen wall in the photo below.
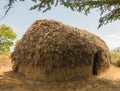
<svg viewBox="0 0 120 91">
<path fill-rule="evenodd" d="M 62 81 L 106 71 L 111 56 L 98 36 L 53 20 L 38 20 L 17 43 L 13 70 L 27 78 Z"/>
</svg>

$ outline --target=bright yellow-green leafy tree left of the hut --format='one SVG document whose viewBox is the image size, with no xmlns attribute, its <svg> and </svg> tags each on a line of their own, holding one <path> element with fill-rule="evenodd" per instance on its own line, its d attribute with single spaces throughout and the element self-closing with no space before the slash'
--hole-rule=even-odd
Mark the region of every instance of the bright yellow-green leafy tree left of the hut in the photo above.
<svg viewBox="0 0 120 91">
<path fill-rule="evenodd" d="M 0 53 L 10 52 L 10 47 L 13 46 L 13 40 L 16 34 L 9 26 L 0 25 Z"/>
</svg>

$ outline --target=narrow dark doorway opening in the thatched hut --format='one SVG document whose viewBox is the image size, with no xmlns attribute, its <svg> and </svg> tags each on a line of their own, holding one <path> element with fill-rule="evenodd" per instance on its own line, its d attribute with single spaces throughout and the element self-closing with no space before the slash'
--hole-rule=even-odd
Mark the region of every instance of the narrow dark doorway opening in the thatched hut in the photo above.
<svg viewBox="0 0 120 91">
<path fill-rule="evenodd" d="M 93 75 L 98 75 L 98 69 L 97 69 L 98 61 L 99 61 L 99 54 L 97 52 L 94 56 L 94 61 L 93 61 L 93 67 L 92 67 Z"/>
</svg>

